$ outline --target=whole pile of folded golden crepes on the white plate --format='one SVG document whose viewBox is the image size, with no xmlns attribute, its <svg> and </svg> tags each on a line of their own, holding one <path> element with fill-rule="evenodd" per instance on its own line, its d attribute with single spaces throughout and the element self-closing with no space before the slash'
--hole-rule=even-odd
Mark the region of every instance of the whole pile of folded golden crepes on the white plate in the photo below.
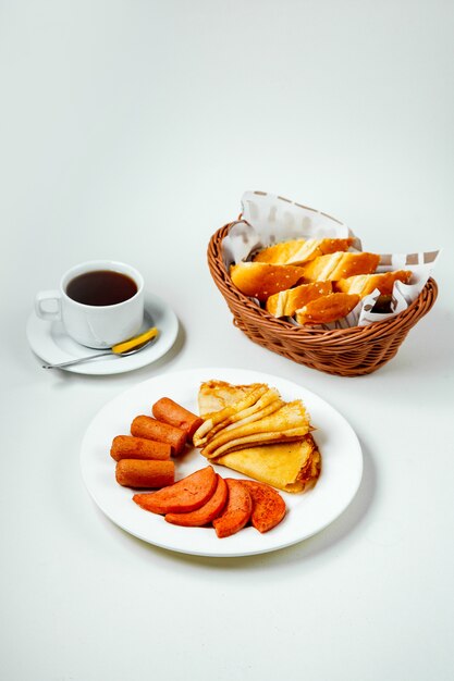
<svg viewBox="0 0 454 681">
<path fill-rule="evenodd" d="M 257 391 L 257 385 L 260 385 L 262 391 Z M 201 447 L 204 456 L 210 455 L 209 458 L 216 463 L 284 492 L 304 492 L 317 482 L 320 474 L 321 457 L 309 432 L 312 430 L 310 417 L 300 400 L 296 400 L 296 409 L 293 406 L 289 407 L 295 403 L 284 405 L 287 409 L 283 419 L 282 412 L 279 416 L 281 407 L 274 412 L 278 418 L 273 428 L 278 430 L 271 431 L 271 434 L 278 437 L 278 442 L 268 439 L 270 431 L 267 431 L 267 426 L 272 425 L 273 414 L 267 418 L 268 421 L 265 420 L 265 424 L 262 423 L 261 426 L 260 421 L 246 423 L 245 426 L 241 422 L 229 423 L 225 428 L 216 431 L 214 436 L 210 438 L 210 430 L 214 430 L 219 423 L 218 414 L 221 412 L 223 414 L 236 413 L 235 409 L 244 405 L 246 396 L 254 395 L 258 401 L 269 389 L 275 391 L 266 384 L 232 385 L 225 381 L 216 380 L 201 383 L 198 392 L 198 407 L 200 417 L 207 426 L 200 426 L 195 433 L 194 444 Z M 212 411 L 213 406 L 219 407 L 218 412 Z M 290 429 L 290 425 L 294 424 L 292 423 L 293 420 L 299 429 L 299 435 L 295 435 L 294 442 L 285 437 L 285 431 L 293 430 Z M 220 423 L 222 424 L 222 420 Z M 238 429 L 243 428 L 254 429 L 256 432 L 247 431 L 248 434 L 245 436 L 244 430 L 238 433 Z M 259 432 L 260 428 L 263 428 L 263 433 Z M 283 429 L 284 432 L 280 432 L 280 429 Z M 200 433 L 203 437 L 199 437 Z M 250 437 L 250 435 L 253 438 L 247 442 L 246 437 Z M 219 438 L 221 438 L 221 446 L 226 445 L 223 450 L 221 450 Z M 282 438 L 283 442 L 279 442 L 279 438 Z"/>
</svg>

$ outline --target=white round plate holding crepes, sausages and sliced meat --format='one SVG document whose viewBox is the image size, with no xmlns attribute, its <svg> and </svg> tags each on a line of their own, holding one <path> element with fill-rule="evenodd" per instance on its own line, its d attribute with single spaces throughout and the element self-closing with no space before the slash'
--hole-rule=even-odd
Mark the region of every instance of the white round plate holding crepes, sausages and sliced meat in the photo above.
<svg viewBox="0 0 454 681">
<path fill-rule="evenodd" d="M 110 445 L 115 435 L 130 433 L 133 419 L 150 414 L 160 397 L 197 413 L 197 393 L 203 381 L 216 379 L 233 384 L 267 383 L 283 399 L 300 398 L 317 428 L 314 433 L 322 457 L 321 474 L 315 487 L 304 494 L 281 492 L 287 513 L 274 529 L 260 534 L 253 527 L 230 537 L 218 538 L 212 528 L 171 525 L 161 516 L 148 512 L 133 500 L 134 491 L 115 481 L 115 462 Z M 207 466 L 196 449 L 175 459 L 175 480 Z M 296 383 L 242 369 L 192 369 L 145 381 L 106 405 L 90 423 L 81 453 L 82 474 L 99 508 L 120 528 L 134 536 L 185 554 L 199 556 L 247 556 L 277 550 L 305 540 L 335 520 L 356 494 L 363 474 L 358 438 L 347 421 L 328 403 Z M 213 467 L 224 478 L 245 478 L 222 466 Z"/>
</svg>

